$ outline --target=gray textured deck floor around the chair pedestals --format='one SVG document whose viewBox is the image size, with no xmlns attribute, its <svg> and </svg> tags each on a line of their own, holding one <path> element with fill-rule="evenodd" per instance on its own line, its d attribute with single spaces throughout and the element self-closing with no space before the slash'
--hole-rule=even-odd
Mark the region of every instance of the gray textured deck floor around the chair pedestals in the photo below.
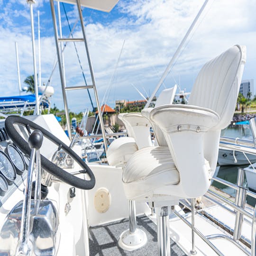
<svg viewBox="0 0 256 256">
<path fill-rule="evenodd" d="M 129 252 L 118 246 L 119 235 L 129 228 L 128 219 L 111 222 L 90 228 L 90 256 L 157 256 L 156 225 L 145 215 L 137 217 L 137 227 L 143 229 L 147 235 L 144 247 Z M 171 255 L 185 256 L 186 254 L 171 239 Z"/>
</svg>

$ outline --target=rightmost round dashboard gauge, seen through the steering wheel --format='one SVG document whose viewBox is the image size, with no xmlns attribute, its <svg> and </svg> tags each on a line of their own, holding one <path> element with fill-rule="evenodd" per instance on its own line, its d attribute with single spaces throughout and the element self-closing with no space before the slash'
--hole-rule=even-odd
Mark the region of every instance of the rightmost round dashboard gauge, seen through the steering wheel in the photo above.
<svg viewBox="0 0 256 256">
<path fill-rule="evenodd" d="M 10 160 L 12 161 L 15 167 L 16 173 L 18 175 L 22 175 L 26 169 L 26 165 L 25 165 L 24 158 L 20 154 L 18 149 L 15 146 L 10 144 L 5 148 L 5 153 L 9 156 Z"/>
</svg>

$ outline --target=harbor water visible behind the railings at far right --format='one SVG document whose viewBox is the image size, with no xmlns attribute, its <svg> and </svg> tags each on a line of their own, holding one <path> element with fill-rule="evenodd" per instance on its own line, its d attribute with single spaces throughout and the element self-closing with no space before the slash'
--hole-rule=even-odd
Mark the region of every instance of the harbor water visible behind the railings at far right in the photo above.
<svg viewBox="0 0 256 256">
<path fill-rule="evenodd" d="M 243 138 L 248 140 L 253 140 L 251 129 L 249 125 L 230 125 L 228 128 L 221 131 L 221 136 Z M 249 164 L 248 164 L 249 165 Z M 230 183 L 237 184 L 238 167 L 245 168 L 248 165 L 227 165 L 227 166 L 217 166 L 215 176 L 229 181 Z M 219 188 L 223 192 L 228 193 L 232 197 L 236 196 L 236 191 L 228 186 L 220 184 L 218 182 L 213 182 L 213 186 Z M 247 185 L 246 175 L 245 175 L 245 185 Z M 247 196 L 247 203 L 253 207 L 256 204 L 256 199 Z"/>
</svg>

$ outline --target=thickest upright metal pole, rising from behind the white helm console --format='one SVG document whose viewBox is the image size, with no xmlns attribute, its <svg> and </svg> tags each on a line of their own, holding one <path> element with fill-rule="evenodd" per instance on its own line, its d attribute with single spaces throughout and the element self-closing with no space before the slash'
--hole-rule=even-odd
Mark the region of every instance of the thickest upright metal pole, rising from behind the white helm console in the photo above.
<svg viewBox="0 0 256 256">
<path fill-rule="evenodd" d="M 32 35 L 32 48 L 33 48 L 33 63 L 34 63 L 34 85 L 35 85 L 35 95 L 36 95 L 36 114 L 39 115 L 38 87 L 37 87 L 37 59 L 36 59 L 34 16 L 33 16 L 33 4 L 36 3 L 36 1 L 27 0 L 27 3 L 30 5 L 31 35 Z"/>
</svg>

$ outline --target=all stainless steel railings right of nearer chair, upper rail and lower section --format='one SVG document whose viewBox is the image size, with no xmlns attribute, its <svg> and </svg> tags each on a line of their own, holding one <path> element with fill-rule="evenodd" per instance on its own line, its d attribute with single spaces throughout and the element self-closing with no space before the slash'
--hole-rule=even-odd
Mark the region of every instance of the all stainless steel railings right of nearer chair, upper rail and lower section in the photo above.
<svg viewBox="0 0 256 256">
<path fill-rule="evenodd" d="M 225 149 L 239 151 L 244 154 L 256 155 L 256 147 L 253 141 L 221 137 L 219 145 L 220 147 Z M 215 203 L 216 205 L 219 205 L 224 210 L 227 210 L 231 214 L 234 214 L 236 216 L 234 228 L 230 228 L 228 225 L 223 223 L 221 220 L 215 218 L 214 216 L 210 218 L 210 214 L 205 214 L 201 210 L 197 211 L 197 214 L 200 214 L 202 218 L 207 219 L 211 223 L 214 223 L 219 228 L 223 229 L 223 233 L 221 234 L 213 234 L 205 237 L 198 229 L 193 228 L 193 231 L 199 237 L 201 237 L 218 255 L 223 254 L 211 242 L 211 240 L 213 239 L 229 240 L 240 250 L 242 250 L 246 255 L 256 256 L 256 206 L 254 207 L 254 210 L 251 211 L 248 211 L 245 207 L 246 197 L 249 196 L 256 199 L 256 193 L 248 190 L 247 186 L 245 186 L 244 178 L 245 170 L 240 167 L 238 167 L 237 184 L 230 183 L 219 177 L 212 177 L 213 181 L 224 184 L 227 187 L 232 188 L 236 191 L 236 197 L 234 202 L 214 192 L 212 189 L 209 189 L 208 192 L 204 195 L 204 198 L 206 198 L 207 200 Z M 188 201 L 182 200 L 180 202 L 189 210 L 193 210 L 192 205 Z M 192 228 L 192 223 L 190 223 L 184 216 L 182 216 L 177 211 L 174 211 L 174 213 L 176 216 L 182 219 L 184 223 Z M 241 234 L 244 222 L 247 222 L 247 224 L 251 225 L 252 227 L 250 238 L 242 236 Z M 229 232 L 227 232 L 227 230 L 229 230 Z"/>
</svg>

